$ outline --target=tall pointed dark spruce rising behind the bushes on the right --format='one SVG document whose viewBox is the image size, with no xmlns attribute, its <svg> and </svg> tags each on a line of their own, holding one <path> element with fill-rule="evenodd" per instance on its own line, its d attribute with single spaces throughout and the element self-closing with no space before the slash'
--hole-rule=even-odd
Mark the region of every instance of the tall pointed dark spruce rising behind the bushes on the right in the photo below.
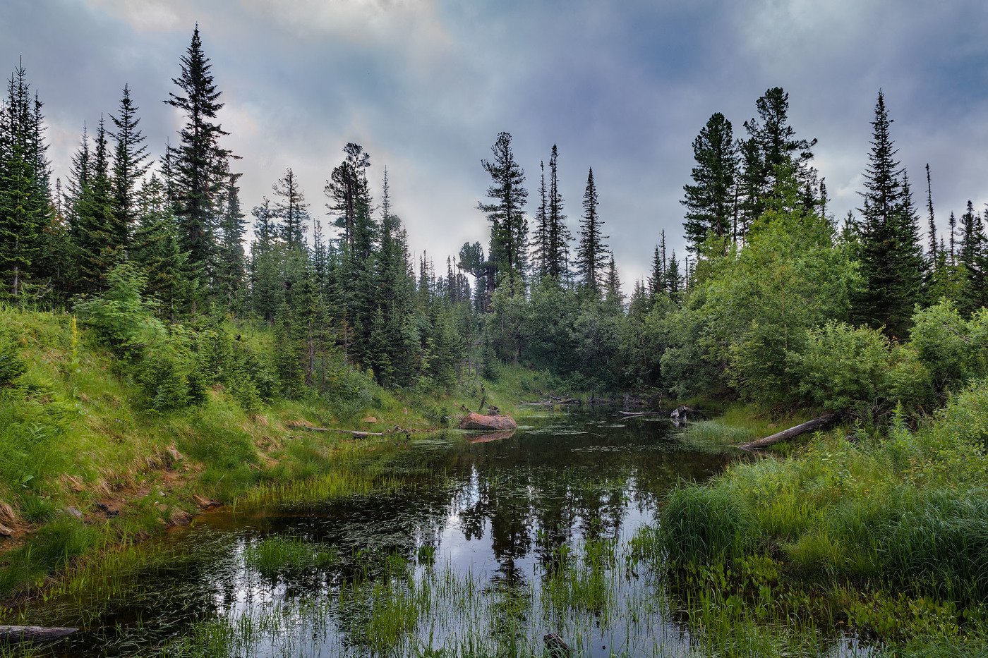
<svg viewBox="0 0 988 658">
<path fill-rule="evenodd" d="M 871 326 L 884 326 L 890 336 L 905 339 L 913 306 L 922 294 L 924 262 L 908 180 L 895 160 L 897 149 L 889 134 L 890 124 L 884 95 L 879 91 L 862 193 L 864 291 L 857 312 Z"/>
</svg>

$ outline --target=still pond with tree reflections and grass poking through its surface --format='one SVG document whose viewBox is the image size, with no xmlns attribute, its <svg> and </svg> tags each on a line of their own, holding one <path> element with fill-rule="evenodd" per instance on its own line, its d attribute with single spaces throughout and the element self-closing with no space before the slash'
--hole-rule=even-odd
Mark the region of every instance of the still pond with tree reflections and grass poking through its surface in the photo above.
<svg viewBox="0 0 988 658">
<path fill-rule="evenodd" d="M 670 487 L 737 453 L 613 410 L 520 423 L 389 444 L 348 466 L 380 474 L 368 492 L 295 489 L 207 512 L 27 604 L 25 619 L 83 627 L 40 647 L 54 656 L 542 655 L 560 642 L 693 655 L 635 545 Z M 839 633 L 822 641 L 855 650 Z"/>
</svg>

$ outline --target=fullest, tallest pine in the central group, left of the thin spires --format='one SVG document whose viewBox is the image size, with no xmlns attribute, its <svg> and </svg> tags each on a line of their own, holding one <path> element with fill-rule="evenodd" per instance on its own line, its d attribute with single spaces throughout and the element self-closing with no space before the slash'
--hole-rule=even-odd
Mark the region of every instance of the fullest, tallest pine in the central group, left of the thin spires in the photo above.
<svg viewBox="0 0 988 658">
<path fill-rule="evenodd" d="M 477 205 L 491 222 L 489 255 L 493 276 L 487 280 L 488 300 L 494 288 L 503 285 L 507 285 L 512 294 L 524 292 L 529 233 L 529 222 L 525 217 L 529 193 L 525 189 L 525 172 L 511 148 L 511 134 L 499 133 L 491 151 L 494 159 L 481 160 L 480 164 L 492 179 L 487 189 L 492 203 Z"/>
</svg>

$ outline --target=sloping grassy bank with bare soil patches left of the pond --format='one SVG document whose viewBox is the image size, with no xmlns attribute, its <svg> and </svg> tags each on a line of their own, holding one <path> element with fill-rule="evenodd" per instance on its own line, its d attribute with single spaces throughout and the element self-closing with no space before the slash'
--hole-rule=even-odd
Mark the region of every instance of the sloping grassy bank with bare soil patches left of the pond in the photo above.
<svg viewBox="0 0 988 658">
<path fill-rule="evenodd" d="M 266 327 L 227 324 L 259 355 L 273 340 Z M 0 345 L 0 599 L 82 555 L 183 523 L 209 501 L 331 474 L 354 452 L 405 436 L 355 444 L 307 428 L 424 431 L 482 397 L 513 412 L 541 385 L 505 368 L 495 381 L 463 372 L 452 392 L 397 394 L 351 370 L 333 395 L 244 404 L 214 383 L 196 404 L 155 411 L 146 384 L 69 314 L 0 308 Z"/>
</svg>

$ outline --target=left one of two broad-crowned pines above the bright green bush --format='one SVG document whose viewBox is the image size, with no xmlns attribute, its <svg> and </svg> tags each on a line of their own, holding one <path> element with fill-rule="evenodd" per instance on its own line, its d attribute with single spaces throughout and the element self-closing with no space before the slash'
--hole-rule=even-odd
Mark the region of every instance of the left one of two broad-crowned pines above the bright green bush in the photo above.
<svg viewBox="0 0 988 658">
<path fill-rule="evenodd" d="M 738 166 L 731 123 L 719 112 L 711 116 L 694 139 L 693 152 L 693 184 L 683 186 L 686 197 L 680 203 L 687 208 L 683 227 L 688 248 L 696 253 L 708 235 L 724 238 L 731 230 Z"/>
</svg>

